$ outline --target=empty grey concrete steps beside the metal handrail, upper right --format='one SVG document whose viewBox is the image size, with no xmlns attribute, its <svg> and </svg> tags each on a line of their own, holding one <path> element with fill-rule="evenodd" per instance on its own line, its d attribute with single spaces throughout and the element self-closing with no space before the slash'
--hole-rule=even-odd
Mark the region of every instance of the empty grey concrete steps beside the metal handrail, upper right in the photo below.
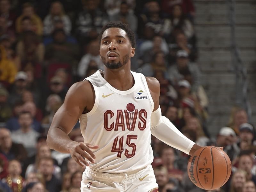
<svg viewBox="0 0 256 192">
<path fill-rule="evenodd" d="M 214 136 L 228 123 L 236 101 L 236 81 L 231 61 L 229 8 L 226 0 L 194 0 L 195 30 L 202 84 L 209 97 L 208 129 Z M 236 44 L 248 71 L 248 99 L 256 125 L 256 1 L 236 0 Z M 255 120 L 254 120 L 255 119 Z"/>
</svg>

